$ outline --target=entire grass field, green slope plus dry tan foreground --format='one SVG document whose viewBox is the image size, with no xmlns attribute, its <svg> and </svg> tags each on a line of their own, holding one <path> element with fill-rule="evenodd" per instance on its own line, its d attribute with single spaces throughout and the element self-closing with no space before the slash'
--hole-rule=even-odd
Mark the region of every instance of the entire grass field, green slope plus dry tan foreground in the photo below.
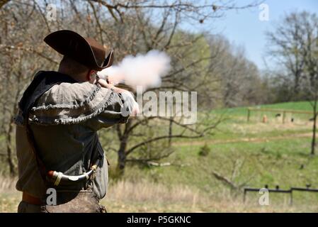
<svg viewBox="0 0 318 227">
<path fill-rule="evenodd" d="M 260 106 L 271 109 L 310 111 L 307 102 Z M 266 114 L 267 123 L 261 119 Z M 122 179 L 114 179 L 115 153 L 109 153 L 110 186 L 103 204 L 110 212 L 317 212 L 318 193 L 297 192 L 290 206 L 289 196 L 270 194 L 270 205 L 259 205 L 258 193 L 246 195 L 244 187 L 280 189 L 318 188 L 318 156 L 310 155 L 311 116 L 290 115 L 283 124 L 266 112 L 251 114 L 246 108 L 217 110 L 222 116 L 213 135 L 200 140 L 174 140 L 175 152 L 161 162 L 165 167 L 128 165 Z M 207 155 L 198 155 L 206 145 Z M 217 179 L 215 175 L 221 176 Z M 14 212 L 21 194 L 14 192 L 13 179 L 0 184 L 0 212 Z"/>
</svg>

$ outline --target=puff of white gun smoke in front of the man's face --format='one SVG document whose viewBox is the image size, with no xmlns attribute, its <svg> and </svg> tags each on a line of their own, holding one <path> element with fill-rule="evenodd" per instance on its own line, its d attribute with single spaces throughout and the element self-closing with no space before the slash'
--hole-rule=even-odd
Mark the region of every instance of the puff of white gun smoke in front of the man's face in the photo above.
<svg viewBox="0 0 318 227">
<path fill-rule="evenodd" d="M 130 87 L 159 87 L 161 77 L 170 70 L 170 57 L 165 52 L 150 50 L 146 55 L 126 56 L 118 65 L 98 72 L 98 76 L 110 79 L 113 84 L 124 82 Z"/>
</svg>

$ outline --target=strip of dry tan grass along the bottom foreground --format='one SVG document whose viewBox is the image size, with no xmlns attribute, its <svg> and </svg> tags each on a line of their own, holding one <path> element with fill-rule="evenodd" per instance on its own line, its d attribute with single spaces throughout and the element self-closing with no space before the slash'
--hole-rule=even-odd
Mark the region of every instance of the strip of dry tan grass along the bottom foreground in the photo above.
<svg viewBox="0 0 318 227">
<path fill-rule="evenodd" d="M 0 213 L 16 212 L 21 193 L 14 185 L 16 179 L 0 176 Z M 290 206 L 288 202 L 275 206 L 260 206 L 242 202 L 228 192 L 205 194 L 183 185 L 166 186 L 147 182 L 123 180 L 109 186 L 101 201 L 109 212 L 304 212 L 318 211 L 318 206 Z"/>
</svg>

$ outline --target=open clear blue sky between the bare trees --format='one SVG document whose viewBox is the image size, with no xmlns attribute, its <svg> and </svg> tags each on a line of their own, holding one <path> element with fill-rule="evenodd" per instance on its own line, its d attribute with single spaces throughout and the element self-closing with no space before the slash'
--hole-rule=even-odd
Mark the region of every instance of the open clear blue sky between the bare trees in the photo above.
<svg viewBox="0 0 318 227">
<path fill-rule="evenodd" d="M 239 0 L 239 5 L 249 4 L 252 0 Z M 225 17 L 213 21 L 212 33 L 224 35 L 230 43 L 243 47 L 246 57 L 254 62 L 260 70 L 266 69 L 264 57 L 266 57 L 266 31 L 274 31 L 276 23 L 286 13 L 292 11 L 310 11 L 318 13 L 318 0 L 265 0 L 268 5 L 268 21 L 259 20 L 259 7 L 239 11 L 227 11 Z M 206 29 L 211 25 L 197 27 Z M 266 57 L 266 63 L 273 66 L 273 61 Z"/>
</svg>

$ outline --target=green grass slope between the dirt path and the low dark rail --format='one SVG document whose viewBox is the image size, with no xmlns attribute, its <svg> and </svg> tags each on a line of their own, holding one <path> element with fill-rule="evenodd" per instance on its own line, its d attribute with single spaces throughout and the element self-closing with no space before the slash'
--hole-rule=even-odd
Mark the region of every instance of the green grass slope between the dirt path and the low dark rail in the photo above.
<svg viewBox="0 0 318 227">
<path fill-rule="evenodd" d="M 215 192 L 222 183 L 215 181 L 212 170 L 231 177 L 233 163 L 244 162 L 239 175 L 234 177 L 238 184 L 251 174 L 255 175 L 249 186 L 262 187 L 269 184 L 282 187 L 312 184 L 318 188 L 318 157 L 310 157 L 310 139 L 270 141 L 266 143 L 231 143 L 209 145 L 211 151 L 207 157 L 198 155 L 200 146 L 178 146 L 176 152 L 167 160 L 174 162 L 169 167 L 143 167 L 138 171 L 127 172 L 126 177 L 149 177 L 166 185 L 187 184 L 206 192 Z M 183 166 L 182 166 L 182 165 Z M 301 168 L 301 166 L 304 166 Z M 182 174 L 181 174 L 182 173 Z M 287 177 L 288 176 L 288 177 Z"/>
</svg>

